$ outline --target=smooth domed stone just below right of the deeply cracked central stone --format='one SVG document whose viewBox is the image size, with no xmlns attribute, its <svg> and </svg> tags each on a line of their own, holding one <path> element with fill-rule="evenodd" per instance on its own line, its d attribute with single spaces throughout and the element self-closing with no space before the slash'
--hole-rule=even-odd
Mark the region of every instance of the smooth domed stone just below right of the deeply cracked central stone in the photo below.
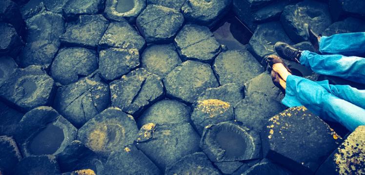
<svg viewBox="0 0 365 175">
<path fill-rule="evenodd" d="M 191 109 L 182 102 L 161 100 L 153 104 L 137 118 L 139 127 L 147 123 L 188 123 Z"/>
</svg>

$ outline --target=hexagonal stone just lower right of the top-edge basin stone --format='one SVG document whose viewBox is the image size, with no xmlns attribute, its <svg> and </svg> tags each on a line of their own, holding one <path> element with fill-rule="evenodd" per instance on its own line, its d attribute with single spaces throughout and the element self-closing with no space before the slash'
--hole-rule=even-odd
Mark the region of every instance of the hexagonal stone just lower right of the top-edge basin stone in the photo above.
<svg viewBox="0 0 365 175">
<path fill-rule="evenodd" d="M 184 22 L 180 11 L 161 5 L 148 5 L 137 18 L 137 27 L 147 42 L 172 41 Z"/>
</svg>

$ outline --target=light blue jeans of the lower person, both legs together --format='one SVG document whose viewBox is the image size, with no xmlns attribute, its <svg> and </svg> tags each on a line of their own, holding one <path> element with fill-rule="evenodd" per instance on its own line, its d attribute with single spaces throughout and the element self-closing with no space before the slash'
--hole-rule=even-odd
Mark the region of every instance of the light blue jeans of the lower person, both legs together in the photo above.
<svg viewBox="0 0 365 175">
<path fill-rule="evenodd" d="M 287 107 L 303 105 L 325 120 L 337 121 L 353 131 L 365 125 L 365 109 L 329 93 L 320 84 L 290 75 L 286 79 L 282 103 Z M 365 101 L 365 99 L 359 99 Z"/>
</svg>

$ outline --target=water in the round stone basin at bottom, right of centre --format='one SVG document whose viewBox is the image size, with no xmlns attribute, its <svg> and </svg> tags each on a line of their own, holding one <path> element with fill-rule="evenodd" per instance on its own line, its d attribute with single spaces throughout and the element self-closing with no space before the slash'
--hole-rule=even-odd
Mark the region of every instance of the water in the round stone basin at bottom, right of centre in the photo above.
<svg viewBox="0 0 365 175">
<path fill-rule="evenodd" d="M 217 133 L 215 140 L 225 150 L 226 157 L 241 156 L 246 151 L 245 140 L 236 132 L 221 130 Z"/>
</svg>

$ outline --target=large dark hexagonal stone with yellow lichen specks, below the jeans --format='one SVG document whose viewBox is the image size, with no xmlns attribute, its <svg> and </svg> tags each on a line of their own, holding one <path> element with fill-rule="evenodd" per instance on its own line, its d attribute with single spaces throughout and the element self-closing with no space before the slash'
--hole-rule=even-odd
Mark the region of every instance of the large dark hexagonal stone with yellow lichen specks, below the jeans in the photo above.
<svg viewBox="0 0 365 175">
<path fill-rule="evenodd" d="M 300 174 L 313 174 L 342 141 L 305 107 L 289 108 L 270 118 L 261 139 L 267 158 Z"/>
</svg>

